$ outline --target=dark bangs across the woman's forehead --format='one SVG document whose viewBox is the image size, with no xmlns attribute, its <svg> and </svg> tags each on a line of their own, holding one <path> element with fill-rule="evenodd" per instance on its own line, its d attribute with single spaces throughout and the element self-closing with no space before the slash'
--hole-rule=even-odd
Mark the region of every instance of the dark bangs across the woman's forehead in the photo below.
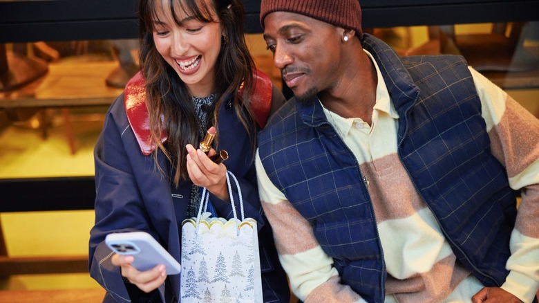
<svg viewBox="0 0 539 303">
<path fill-rule="evenodd" d="M 185 19 L 196 19 L 202 22 L 216 22 L 214 8 L 211 2 L 214 0 L 153 0 L 148 2 L 146 7 L 146 27 L 153 32 L 155 22 L 165 23 L 162 17 L 169 15 L 169 12 L 176 24 L 182 26 Z"/>
</svg>

